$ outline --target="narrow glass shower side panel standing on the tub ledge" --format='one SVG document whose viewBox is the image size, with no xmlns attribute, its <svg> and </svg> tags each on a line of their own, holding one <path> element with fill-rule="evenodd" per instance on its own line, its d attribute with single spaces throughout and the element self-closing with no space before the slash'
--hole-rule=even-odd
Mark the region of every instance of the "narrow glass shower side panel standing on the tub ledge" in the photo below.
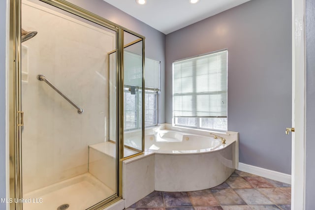
<svg viewBox="0 0 315 210">
<path fill-rule="evenodd" d="M 139 37 L 124 33 L 124 156 L 142 151 L 142 43 Z"/>
</svg>

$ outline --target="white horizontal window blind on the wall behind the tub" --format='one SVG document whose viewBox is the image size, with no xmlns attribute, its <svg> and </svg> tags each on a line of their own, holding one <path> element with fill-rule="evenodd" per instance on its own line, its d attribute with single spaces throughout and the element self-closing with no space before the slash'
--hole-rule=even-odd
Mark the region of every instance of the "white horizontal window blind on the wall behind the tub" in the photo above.
<svg viewBox="0 0 315 210">
<path fill-rule="evenodd" d="M 173 62 L 173 116 L 227 117 L 227 50 Z"/>
</svg>

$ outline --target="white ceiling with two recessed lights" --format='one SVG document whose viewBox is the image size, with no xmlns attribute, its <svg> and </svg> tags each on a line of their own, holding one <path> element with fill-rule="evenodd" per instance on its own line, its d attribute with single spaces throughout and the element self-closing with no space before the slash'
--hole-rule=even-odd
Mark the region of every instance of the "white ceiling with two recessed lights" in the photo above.
<svg viewBox="0 0 315 210">
<path fill-rule="evenodd" d="M 200 0 L 196 4 L 189 0 L 147 0 L 144 5 L 135 0 L 104 1 L 168 34 L 249 0 Z"/>
</svg>

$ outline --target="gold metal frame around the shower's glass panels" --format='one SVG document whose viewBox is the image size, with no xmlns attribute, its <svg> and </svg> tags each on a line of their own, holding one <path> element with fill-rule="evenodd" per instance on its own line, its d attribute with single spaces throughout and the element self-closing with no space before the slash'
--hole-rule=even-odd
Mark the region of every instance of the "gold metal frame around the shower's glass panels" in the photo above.
<svg viewBox="0 0 315 210">
<path fill-rule="evenodd" d="M 65 0 L 40 0 L 74 15 L 92 21 L 100 26 L 116 31 L 117 66 L 116 82 L 118 104 L 117 119 L 117 192 L 89 210 L 103 209 L 122 198 L 122 161 L 144 151 L 144 115 L 142 115 L 142 151 L 124 158 L 124 32 L 138 36 L 142 42 L 142 69 L 144 69 L 144 39 L 145 37 L 131 30 L 121 27 L 111 21 L 97 16 Z M 9 198 L 22 199 L 22 126 L 23 110 L 21 100 L 21 0 L 9 0 L 9 51 L 8 51 L 8 102 L 9 102 Z M 144 70 L 142 71 L 142 90 L 144 90 Z M 144 97 L 144 94 L 143 94 Z M 142 113 L 144 113 L 144 99 L 142 100 Z M 22 203 L 12 202 L 10 210 L 22 210 Z"/>
</svg>

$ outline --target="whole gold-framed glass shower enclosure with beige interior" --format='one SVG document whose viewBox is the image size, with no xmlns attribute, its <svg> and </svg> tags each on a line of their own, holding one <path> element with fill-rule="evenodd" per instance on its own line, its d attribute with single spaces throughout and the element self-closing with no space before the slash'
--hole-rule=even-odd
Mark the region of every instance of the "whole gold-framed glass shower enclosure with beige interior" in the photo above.
<svg viewBox="0 0 315 210">
<path fill-rule="evenodd" d="M 143 151 L 144 37 L 64 0 L 11 3 L 10 209 L 121 199 L 122 161 Z"/>
</svg>

